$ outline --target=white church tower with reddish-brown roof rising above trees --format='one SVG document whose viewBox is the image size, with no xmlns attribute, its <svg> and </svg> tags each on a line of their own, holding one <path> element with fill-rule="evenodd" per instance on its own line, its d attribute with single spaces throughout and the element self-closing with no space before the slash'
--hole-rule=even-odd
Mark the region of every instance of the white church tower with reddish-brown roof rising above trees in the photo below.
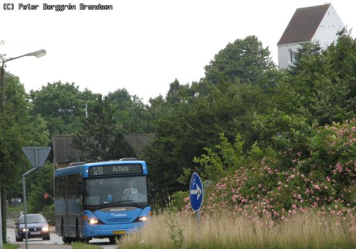
<svg viewBox="0 0 356 249">
<path fill-rule="evenodd" d="M 277 43 L 279 68 L 293 65 L 293 53 L 302 43 L 318 42 L 321 48 L 326 48 L 336 41 L 337 33 L 343 28 L 332 4 L 296 9 Z"/>
</svg>

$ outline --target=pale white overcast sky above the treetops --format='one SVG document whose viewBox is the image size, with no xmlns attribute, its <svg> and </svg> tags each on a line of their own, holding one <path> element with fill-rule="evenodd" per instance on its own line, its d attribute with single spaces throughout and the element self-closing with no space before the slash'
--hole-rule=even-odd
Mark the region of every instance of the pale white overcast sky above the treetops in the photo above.
<svg viewBox="0 0 356 249">
<path fill-rule="evenodd" d="M 16 1 L 16 2 L 15 2 Z M 80 90 L 107 95 L 125 88 L 147 102 L 165 96 L 170 82 L 198 81 L 204 66 L 229 42 L 255 35 L 278 63 L 277 42 L 296 8 L 324 1 L 112 1 L 1 0 L 0 53 L 7 58 L 45 49 L 42 58 L 6 63 L 26 92 L 48 82 L 74 82 Z M 13 10 L 4 10 L 13 3 Z M 43 10 L 43 4 L 76 5 L 76 10 Z M 112 10 L 79 10 L 79 4 L 112 5 Z M 356 25 L 356 1 L 331 2 L 344 25 Z M 39 5 L 18 10 L 18 4 Z M 355 32 L 352 32 L 355 37 Z"/>
</svg>

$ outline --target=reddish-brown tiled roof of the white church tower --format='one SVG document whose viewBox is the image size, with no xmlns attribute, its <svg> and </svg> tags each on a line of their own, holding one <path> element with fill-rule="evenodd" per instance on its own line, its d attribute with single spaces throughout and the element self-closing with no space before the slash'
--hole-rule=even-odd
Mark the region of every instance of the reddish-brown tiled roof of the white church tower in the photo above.
<svg viewBox="0 0 356 249">
<path fill-rule="evenodd" d="M 330 5 L 296 9 L 277 45 L 310 41 Z"/>
</svg>

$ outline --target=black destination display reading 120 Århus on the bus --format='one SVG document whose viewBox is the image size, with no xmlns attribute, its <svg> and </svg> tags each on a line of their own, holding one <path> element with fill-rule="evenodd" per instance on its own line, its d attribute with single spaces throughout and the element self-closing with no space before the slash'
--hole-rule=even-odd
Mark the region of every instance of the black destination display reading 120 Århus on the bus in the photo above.
<svg viewBox="0 0 356 249">
<path fill-rule="evenodd" d="M 112 164 L 100 165 L 89 168 L 89 176 L 109 176 L 124 174 L 142 174 L 141 164 Z"/>
</svg>

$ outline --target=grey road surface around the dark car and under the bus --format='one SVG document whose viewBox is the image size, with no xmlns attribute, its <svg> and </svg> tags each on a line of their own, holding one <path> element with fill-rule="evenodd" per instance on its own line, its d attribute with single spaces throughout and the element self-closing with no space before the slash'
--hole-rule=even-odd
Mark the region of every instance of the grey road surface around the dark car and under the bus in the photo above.
<svg viewBox="0 0 356 249">
<path fill-rule="evenodd" d="M 8 221 L 9 223 L 12 223 Z M 16 242 L 15 241 L 15 229 L 13 227 L 6 228 L 7 240 L 12 244 L 24 244 L 25 242 Z M 28 243 L 31 244 L 63 244 L 62 237 L 56 235 L 55 233 L 51 233 L 50 240 L 42 240 L 42 239 L 28 239 Z M 90 244 L 95 244 L 103 247 L 104 249 L 115 249 L 116 245 L 110 244 L 109 239 L 93 239 L 90 241 Z"/>
</svg>

